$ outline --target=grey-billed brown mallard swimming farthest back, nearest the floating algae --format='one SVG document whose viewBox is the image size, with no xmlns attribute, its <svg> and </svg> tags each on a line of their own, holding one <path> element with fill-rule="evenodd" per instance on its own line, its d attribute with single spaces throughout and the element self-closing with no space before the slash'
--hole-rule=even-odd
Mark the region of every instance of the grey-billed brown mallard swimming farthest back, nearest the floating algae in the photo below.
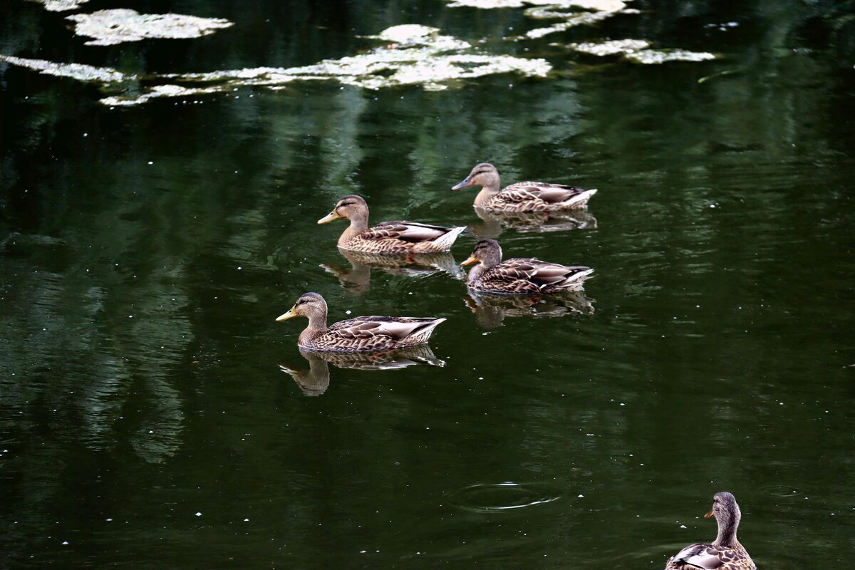
<svg viewBox="0 0 855 570">
<path fill-rule="evenodd" d="M 492 212 L 545 212 L 550 210 L 587 208 L 587 201 L 596 190 L 547 182 L 517 182 L 499 191 L 498 170 L 487 162 L 472 169 L 463 182 L 451 190 L 481 186 L 475 197 L 475 208 Z"/>
</svg>

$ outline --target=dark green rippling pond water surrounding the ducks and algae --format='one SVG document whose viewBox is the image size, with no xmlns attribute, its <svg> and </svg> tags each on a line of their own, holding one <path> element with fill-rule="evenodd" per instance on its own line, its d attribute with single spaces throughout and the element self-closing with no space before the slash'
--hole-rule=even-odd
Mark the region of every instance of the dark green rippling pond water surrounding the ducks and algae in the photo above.
<svg viewBox="0 0 855 570">
<path fill-rule="evenodd" d="M 639 1 L 528 43 L 501 39 L 543 25 L 522 9 L 244 4 L 137 3 L 235 26 L 90 47 L 9 0 L 0 53 L 290 67 L 422 23 L 554 70 L 109 109 L 97 86 L 0 64 L 0 567 L 661 568 L 714 538 L 700 515 L 723 490 L 758 567 L 846 567 L 852 2 Z M 719 57 L 563 47 L 604 38 Z M 473 313 L 448 273 L 357 268 L 343 288 L 321 267 L 351 272 L 343 223 L 315 225 L 350 193 L 373 220 L 495 235 L 474 191 L 449 191 L 481 161 L 599 189 L 595 228 L 498 236 L 509 256 L 594 267 L 593 312 Z M 280 370 L 310 366 L 304 321 L 274 322 L 304 291 L 332 320 L 446 317 L 430 343 L 445 366 L 315 362 L 305 397 Z"/>
</svg>

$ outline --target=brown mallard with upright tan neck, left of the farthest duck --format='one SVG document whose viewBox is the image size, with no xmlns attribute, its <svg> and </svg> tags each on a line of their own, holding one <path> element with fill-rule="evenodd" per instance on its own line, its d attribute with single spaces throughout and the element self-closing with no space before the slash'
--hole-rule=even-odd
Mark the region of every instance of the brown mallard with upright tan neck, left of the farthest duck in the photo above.
<svg viewBox="0 0 855 570">
<path fill-rule="evenodd" d="M 345 218 L 351 225 L 339 237 L 339 248 L 368 253 L 409 254 L 451 250 L 465 227 L 442 227 L 415 221 L 384 221 L 369 227 L 369 205 L 361 196 L 345 196 L 318 220 L 326 224 Z"/>
</svg>

